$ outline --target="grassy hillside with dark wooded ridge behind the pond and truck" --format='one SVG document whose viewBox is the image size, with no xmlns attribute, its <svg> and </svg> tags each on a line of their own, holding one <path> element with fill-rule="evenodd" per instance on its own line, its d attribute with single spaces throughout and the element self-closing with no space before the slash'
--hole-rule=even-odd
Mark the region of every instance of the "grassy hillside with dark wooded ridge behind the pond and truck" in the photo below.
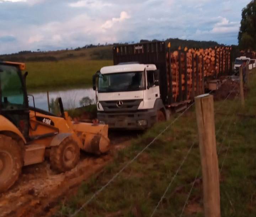
<svg viewBox="0 0 256 217">
<path fill-rule="evenodd" d="M 155 40 L 153 40 L 155 41 Z M 148 42 L 141 40 L 140 42 Z M 178 46 L 206 48 L 220 46 L 214 41 L 194 41 L 167 39 L 171 49 Z M 111 65 L 112 46 L 86 45 L 74 50 L 48 52 L 21 51 L 10 55 L 0 55 L 0 61 L 25 62 L 29 75 L 27 88 L 30 91 L 80 88 L 91 86 L 92 75 L 105 65 Z"/>
</svg>

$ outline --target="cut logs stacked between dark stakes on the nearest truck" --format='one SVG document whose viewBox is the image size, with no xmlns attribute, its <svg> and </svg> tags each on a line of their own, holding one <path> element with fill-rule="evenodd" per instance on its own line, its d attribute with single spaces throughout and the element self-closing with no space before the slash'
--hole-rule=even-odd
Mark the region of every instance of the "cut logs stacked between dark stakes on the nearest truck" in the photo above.
<svg viewBox="0 0 256 217">
<path fill-rule="evenodd" d="M 172 91 L 172 102 L 184 101 L 204 93 L 205 77 L 218 76 L 230 69 L 230 50 L 229 47 L 198 50 L 186 47 L 181 51 L 179 47 L 178 51 L 170 52 L 170 59 L 167 52 L 167 83 L 168 92 Z"/>
</svg>

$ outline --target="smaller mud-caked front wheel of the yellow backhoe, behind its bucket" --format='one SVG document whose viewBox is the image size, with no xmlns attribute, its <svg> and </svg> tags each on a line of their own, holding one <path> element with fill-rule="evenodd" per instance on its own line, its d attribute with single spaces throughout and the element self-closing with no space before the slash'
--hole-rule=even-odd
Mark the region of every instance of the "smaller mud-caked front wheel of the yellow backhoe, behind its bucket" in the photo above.
<svg viewBox="0 0 256 217">
<path fill-rule="evenodd" d="M 79 158 L 80 148 L 71 137 L 65 138 L 50 150 L 51 167 L 59 172 L 73 169 L 78 164 Z"/>
</svg>

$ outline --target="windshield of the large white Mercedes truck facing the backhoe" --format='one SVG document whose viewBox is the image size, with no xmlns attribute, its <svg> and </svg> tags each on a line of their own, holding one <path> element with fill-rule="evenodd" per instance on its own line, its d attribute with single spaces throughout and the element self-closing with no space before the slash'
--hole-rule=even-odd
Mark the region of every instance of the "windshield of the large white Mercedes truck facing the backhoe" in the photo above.
<svg viewBox="0 0 256 217">
<path fill-rule="evenodd" d="M 138 91 L 145 89 L 145 72 L 100 74 L 98 92 Z"/>
</svg>

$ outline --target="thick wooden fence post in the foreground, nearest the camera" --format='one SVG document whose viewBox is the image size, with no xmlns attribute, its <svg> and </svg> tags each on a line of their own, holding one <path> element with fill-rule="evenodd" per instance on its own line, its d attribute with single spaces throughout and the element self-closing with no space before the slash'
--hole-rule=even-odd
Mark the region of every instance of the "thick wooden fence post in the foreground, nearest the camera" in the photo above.
<svg viewBox="0 0 256 217">
<path fill-rule="evenodd" d="M 195 97 L 203 175 L 204 216 L 220 217 L 219 166 L 216 150 L 213 96 Z"/>
</svg>

